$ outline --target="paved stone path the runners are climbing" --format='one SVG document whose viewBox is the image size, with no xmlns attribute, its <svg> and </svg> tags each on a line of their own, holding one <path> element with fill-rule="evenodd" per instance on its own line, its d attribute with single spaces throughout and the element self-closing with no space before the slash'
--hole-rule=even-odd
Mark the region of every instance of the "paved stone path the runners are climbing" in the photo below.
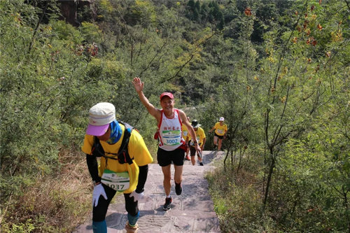
<svg viewBox="0 0 350 233">
<path fill-rule="evenodd" d="M 169 232 L 221 232 L 218 217 L 214 212 L 214 204 L 209 196 L 208 183 L 204 178 L 207 171 L 215 168 L 216 162 L 224 156 L 223 152 L 203 151 L 204 166 L 193 166 L 186 161 L 183 167 L 183 192 L 177 196 L 172 181 L 172 209 L 164 211 L 165 192 L 163 175 L 158 164 L 150 164 L 145 185 L 145 197 L 139 202 L 140 218 L 138 233 Z M 174 166 L 172 166 L 174 176 Z M 91 219 L 91 218 L 90 218 Z M 127 212 L 124 196 L 116 198 L 110 204 L 106 216 L 109 233 L 125 233 Z M 74 233 L 92 232 L 92 220 L 76 228 Z"/>
</svg>

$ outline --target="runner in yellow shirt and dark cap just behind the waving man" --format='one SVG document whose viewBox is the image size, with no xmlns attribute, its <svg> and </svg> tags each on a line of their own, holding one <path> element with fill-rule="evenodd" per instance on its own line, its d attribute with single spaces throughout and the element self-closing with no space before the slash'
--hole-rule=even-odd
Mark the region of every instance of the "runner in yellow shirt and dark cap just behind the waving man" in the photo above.
<svg viewBox="0 0 350 233">
<path fill-rule="evenodd" d="M 197 120 L 192 121 L 192 127 L 195 129 L 198 145 L 200 145 L 200 153 L 197 153 L 198 161 L 200 161 L 200 166 L 203 166 L 202 162 L 202 153 L 203 153 L 203 148 L 204 144 L 207 141 L 207 138 L 205 137 L 204 130 L 200 127 L 200 124 L 198 124 Z M 188 147 L 190 148 L 190 155 L 191 155 L 191 162 L 193 166 L 195 165 L 195 144 L 193 143 L 193 140 L 191 139 L 191 136 L 188 135 Z"/>
</svg>

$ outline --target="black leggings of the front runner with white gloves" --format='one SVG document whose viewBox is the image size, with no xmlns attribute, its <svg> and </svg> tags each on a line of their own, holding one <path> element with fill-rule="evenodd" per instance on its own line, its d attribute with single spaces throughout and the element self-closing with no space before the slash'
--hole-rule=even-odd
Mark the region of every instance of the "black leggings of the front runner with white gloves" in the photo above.
<svg viewBox="0 0 350 233">
<path fill-rule="evenodd" d="M 109 203 L 116 195 L 116 190 L 109 188 L 109 186 L 102 184 L 104 191 L 106 192 L 107 199 L 101 195 L 99 196 L 99 204 L 93 206 L 92 208 L 92 220 L 94 222 L 101 222 L 106 218 L 107 209 L 109 208 Z M 134 202 L 134 198 L 130 197 L 130 193 L 124 194 L 125 198 L 125 209 L 127 213 L 130 213 L 131 216 L 137 216 L 139 213 L 139 207 L 137 206 L 138 202 Z"/>
</svg>

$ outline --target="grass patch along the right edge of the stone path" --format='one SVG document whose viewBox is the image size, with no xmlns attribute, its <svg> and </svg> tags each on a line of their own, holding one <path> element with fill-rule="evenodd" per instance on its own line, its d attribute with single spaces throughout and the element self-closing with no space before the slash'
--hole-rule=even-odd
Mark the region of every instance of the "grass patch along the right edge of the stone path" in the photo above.
<svg viewBox="0 0 350 233">
<path fill-rule="evenodd" d="M 261 188 L 253 173 L 221 166 L 207 180 L 221 232 L 278 232 L 274 220 L 262 214 Z"/>
</svg>

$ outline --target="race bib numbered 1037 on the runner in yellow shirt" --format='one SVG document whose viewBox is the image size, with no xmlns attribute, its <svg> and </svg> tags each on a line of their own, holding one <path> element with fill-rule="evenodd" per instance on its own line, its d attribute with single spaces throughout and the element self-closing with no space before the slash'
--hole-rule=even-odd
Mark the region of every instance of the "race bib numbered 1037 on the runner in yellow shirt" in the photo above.
<svg viewBox="0 0 350 233">
<path fill-rule="evenodd" d="M 130 177 L 127 171 L 115 172 L 109 169 L 104 169 L 104 174 L 102 174 L 101 182 L 109 186 L 109 188 L 113 188 L 113 190 L 123 192 L 130 186 Z"/>
</svg>

